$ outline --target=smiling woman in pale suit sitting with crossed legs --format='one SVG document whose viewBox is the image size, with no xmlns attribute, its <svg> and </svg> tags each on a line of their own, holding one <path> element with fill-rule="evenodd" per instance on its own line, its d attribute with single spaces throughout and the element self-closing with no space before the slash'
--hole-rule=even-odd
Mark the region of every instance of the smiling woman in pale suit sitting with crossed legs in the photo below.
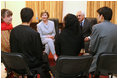
<svg viewBox="0 0 118 79">
<path fill-rule="evenodd" d="M 55 27 L 54 22 L 48 20 L 49 13 L 44 11 L 41 13 L 42 21 L 37 24 L 37 31 L 40 33 L 42 43 L 45 45 L 45 51 L 47 54 L 51 53 L 54 56 L 55 61 L 57 60 L 57 56 L 55 53 L 54 46 L 54 37 L 55 37 Z"/>
</svg>

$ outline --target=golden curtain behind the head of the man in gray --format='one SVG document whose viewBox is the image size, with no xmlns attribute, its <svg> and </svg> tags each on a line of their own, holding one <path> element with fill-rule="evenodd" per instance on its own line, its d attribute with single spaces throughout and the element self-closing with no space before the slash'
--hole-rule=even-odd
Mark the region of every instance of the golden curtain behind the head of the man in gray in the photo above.
<svg viewBox="0 0 118 79">
<path fill-rule="evenodd" d="M 87 17 L 97 18 L 97 9 L 104 6 L 112 9 L 111 22 L 117 24 L 117 1 L 87 1 Z"/>
</svg>

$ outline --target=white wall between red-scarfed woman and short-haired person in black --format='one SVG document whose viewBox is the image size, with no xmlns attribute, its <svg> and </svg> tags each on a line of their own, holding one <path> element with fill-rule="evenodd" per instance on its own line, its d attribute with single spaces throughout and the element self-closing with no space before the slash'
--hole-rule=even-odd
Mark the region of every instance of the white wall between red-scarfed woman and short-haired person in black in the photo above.
<svg viewBox="0 0 118 79">
<path fill-rule="evenodd" d="M 13 27 L 21 24 L 20 11 L 25 7 L 25 1 L 6 1 L 6 8 L 13 12 Z"/>
</svg>

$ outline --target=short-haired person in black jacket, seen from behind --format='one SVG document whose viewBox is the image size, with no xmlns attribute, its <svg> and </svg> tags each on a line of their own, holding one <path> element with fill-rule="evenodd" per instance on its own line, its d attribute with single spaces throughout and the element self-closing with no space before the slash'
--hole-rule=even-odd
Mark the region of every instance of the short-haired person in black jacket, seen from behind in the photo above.
<svg viewBox="0 0 118 79">
<path fill-rule="evenodd" d="M 11 53 L 22 53 L 33 74 L 40 74 L 40 77 L 50 77 L 43 60 L 40 34 L 29 27 L 34 15 L 33 10 L 23 8 L 20 14 L 22 24 L 13 28 L 10 33 Z"/>
</svg>

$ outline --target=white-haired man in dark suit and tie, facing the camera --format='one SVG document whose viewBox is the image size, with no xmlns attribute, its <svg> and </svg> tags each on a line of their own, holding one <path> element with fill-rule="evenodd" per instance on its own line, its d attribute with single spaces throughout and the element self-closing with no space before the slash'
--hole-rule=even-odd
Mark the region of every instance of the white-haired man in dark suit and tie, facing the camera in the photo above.
<svg viewBox="0 0 118 79">
<path fill-rule="evenodd" d="M 85 13 L 83 11 L 78 11 L 77 12 L 77 18 L 78 21 L 80 22 L 80 27 L 82 29 L 82 34 L 83 34 L 83 38 L 89 38 L 90 34 L 91 34 L 91 29 L 92 29 L 92 24 L 91 22 L 85 18 Z M 85 52 L 88 53 L 88 48 L 89 48 L 89 41 L 86 41 L 84 43 L 84 49 Z"/>
</svg>

